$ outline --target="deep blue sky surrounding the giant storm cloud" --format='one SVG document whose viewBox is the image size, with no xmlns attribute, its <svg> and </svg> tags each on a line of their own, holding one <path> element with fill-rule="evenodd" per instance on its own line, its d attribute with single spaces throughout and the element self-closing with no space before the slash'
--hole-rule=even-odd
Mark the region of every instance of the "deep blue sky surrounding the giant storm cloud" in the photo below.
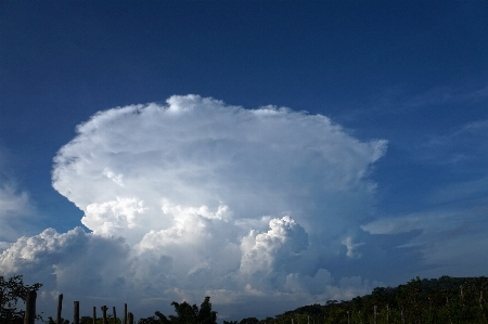
<svg viewBox="0 0 488 324">
<path fill-rule="evenodd" d="M 0 181 L 28 194 L 35 215 L 27 230 L 16 224 L 17 236 L 81 225 L 84 211 L 51 185 L 52 159 L 77 125 L 190 93 L 321 114 L 360 141 L 387 140 L 369 174 L 374 212 L 361 225 L 452 211 L 452 226 L 436 232 L 442 239 L 486 233 L 486 1 L 2 1 L 0 11 Z M 358 238 L 373 259 L 346 275 L 387 284 L 418 273 L 486 275 L 474 273 L 476 261 L 466 271 L 449 258 L 425 262 L 422 225 L 380 232 L 369 230 L 384 243 Z M 418 246 L 409 245 L 411 272 L 375 274 L 376 257 L 403 262 L 389 246 L 397 243 Z M 331 260 L 335 275 L 345 263 Z"/>
</svg>

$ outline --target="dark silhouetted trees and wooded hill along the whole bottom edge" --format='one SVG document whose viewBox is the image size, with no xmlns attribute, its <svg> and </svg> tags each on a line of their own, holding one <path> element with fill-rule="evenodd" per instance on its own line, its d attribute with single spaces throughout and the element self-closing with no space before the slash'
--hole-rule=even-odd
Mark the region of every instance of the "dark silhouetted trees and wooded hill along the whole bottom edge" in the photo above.
<svg viewBox="0 0 488 324">
<path fill-rule="evenodd" d="M 0 276 L 0 323 L 24 323 L 22 302 L 29 290 L 39 290 L 42 284 L 24 284 L 22 275 L 10 278 Z M 310 304 L 286 311 L 274 317 L 258 320 L 244 317 L 237 321 L 223 321 L 223 324 L 488 324 L 488 278 L 451 277 L 412 278 L 397 287 L 376 287 L 365 296 L 351 300 L 329 300 L 324 304 Z M 159 311 L 140 319 L 137 324 L 216 324 L 217 312 L 211 310 L 210 297 L 205 297 L 200 307 L 187 301 L 171 302 L 175 315 L 166 316 Z M 114 311 L 115 312 L 115 311 Z M 55 324 L 51 316 L 36 320 Z M 107 323 L 126 324 L 120 319 L 107 315 Z M 115 321 L 114 321 L 115 320 Z M 104 324 L 102 319 L 81 316 L 80 324 Z M 56 324 L 70 324 L 61 319 Z"/>
</svg>

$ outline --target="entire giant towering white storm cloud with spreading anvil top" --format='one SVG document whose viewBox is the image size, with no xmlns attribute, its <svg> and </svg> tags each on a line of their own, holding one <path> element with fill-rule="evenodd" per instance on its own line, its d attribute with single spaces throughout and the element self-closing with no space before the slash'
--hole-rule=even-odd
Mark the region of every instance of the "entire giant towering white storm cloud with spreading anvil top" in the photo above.
<svg viewBox="0 0 488 324">
<path fill-rule="evenodd" d="M 78 237 L 63 241 L 67 254 L 79 241 L 86 249 L 107 239 L 124 265 L 101 261 L 98 281 L 139 300 L 164 294 L 197 302 L 211 293 L 228 304 L 222 300 L 279 294 L 301 304 L 337 297 L 318 260 L 346 256 L 342 239 L 369 212 L 369 170 L 385 150 L 385 141 L 361 142 L 325 116 L 198 95 L 100 112 L 78 126 L 52 172 L 54 189 L 85 212 L 92 233 L 47 232 L 38 241 Z M 1 256 L 2 271 L 35 267 L 36 258 L 18 255 L 20 244 Z M 41 251 L 35 255 L 56 255 L 48 263 L 62 289 L 69 261 Z"/>
</svg>

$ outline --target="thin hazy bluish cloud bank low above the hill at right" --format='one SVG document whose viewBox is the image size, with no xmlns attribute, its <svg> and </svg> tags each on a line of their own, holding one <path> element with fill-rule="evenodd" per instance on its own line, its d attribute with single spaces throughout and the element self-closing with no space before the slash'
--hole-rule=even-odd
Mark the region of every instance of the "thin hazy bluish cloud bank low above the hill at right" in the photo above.
<svg viewBox="0 0 488 324">
<path fill-rule="evenodd" d="M 396 218 L 384 218 L 362 225 L 370 234 L 395 235 L 419 233 L 396 248 L 414 247 L 423 257 L 427 270 L 419 275 L 476 276 L 488 268 L 488 260 L 480 258 L 488 249 L 486 233 L 487 202 L 472 208 L 435 209 Z M 445 271 L 445 272 L 442 272 Z"/>
</svg>

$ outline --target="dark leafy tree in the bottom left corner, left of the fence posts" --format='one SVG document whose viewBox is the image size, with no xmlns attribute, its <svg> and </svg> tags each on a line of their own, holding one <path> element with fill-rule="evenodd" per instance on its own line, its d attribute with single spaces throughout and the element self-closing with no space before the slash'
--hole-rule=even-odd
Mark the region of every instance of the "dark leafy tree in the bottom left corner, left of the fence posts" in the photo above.
<svg viewBox="0 0 488 324">
<path fill-rule="evenodd" d="M 29 290 L 39 290 L 42 284 L 25 285 L 22 275 L 16 274 L 5 280 L 0 276 L 0 322 L 8 324 L 24 323 L 24 310 L 20 308 L 21 301 L 25 303 L 25 298 Z M 40 314 L 36 314 L 36 320 L 42 320 Z"/>
</svg>

